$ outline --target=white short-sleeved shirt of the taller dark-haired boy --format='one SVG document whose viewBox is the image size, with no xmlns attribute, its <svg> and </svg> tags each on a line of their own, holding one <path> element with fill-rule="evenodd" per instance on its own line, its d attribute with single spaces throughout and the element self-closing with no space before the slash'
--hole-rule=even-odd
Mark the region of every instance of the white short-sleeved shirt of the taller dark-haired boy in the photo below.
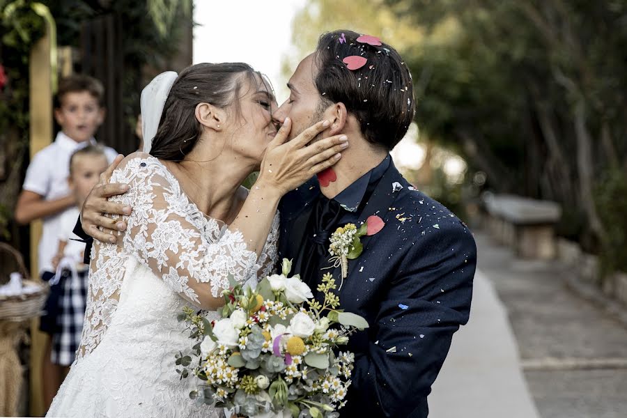
<svg viewBox="0 0 627 418">
<path fill-rule="evenodd" d="M 26 170 L 24 190 L 43 196 L 45 200 L 60 199 L 70 194 L 68 176 L 70 176 L 70 157 L 79 148 L 95 145 L 95 139 L 76 142 L 63 132 L 56 134 L 52 144 L 36 153 Z M 118 155 L 113 148 L 104 147 L 107 160 L 112 162 Z M 52 257 L 59 247 L 59 219 L 61 213 L 43 219 L 43 233 L 39 242 L 39 272 L 52 269 Z"/>
</svg>

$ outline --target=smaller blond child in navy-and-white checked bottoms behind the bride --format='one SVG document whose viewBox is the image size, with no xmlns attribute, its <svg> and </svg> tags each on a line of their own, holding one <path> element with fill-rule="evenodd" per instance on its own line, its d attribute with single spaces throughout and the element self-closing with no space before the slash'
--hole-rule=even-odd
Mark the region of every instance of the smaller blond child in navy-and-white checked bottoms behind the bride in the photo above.
<svg viewBox="0 0 627 418">
<path fill-rule="evenodd" d="M 59 300 L 51 355 L 52 363 L 63 367 L 63 376 L 70 371 L 81 341 L 88 288 L 88 266 L 83 263 L 85 243 L 79 241 L 72 229 L 87 195 L 107 166 L 109 161 L 101 146 L 88 145 L 70 157 L 68 184 L 76 206 L 63 212 L 59 219 L 59 247 L 52 259 L 56 275 L 49 281 L 51 286 L 59 286 L 59 291 L 55 291 Z"/>
</svg>

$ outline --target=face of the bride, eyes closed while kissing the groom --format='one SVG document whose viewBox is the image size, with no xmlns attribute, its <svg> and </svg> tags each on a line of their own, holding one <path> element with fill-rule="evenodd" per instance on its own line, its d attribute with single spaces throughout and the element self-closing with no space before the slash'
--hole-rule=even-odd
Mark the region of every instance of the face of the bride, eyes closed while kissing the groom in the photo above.
<svg viewBox="0 0 627 418">
<path fill-rule="evenodd" d="M 247 79 L 239 98 L 239 118 L 228 130 L 233 138 L 233 151 L 246 159 L 261 164 L 265 148 L 277 134 L 272 112 L 277 109 L 272 89 L 264 79 L 254 75 Z M 235 114 L 235 109 L 231 114 Z"/>
</svg>

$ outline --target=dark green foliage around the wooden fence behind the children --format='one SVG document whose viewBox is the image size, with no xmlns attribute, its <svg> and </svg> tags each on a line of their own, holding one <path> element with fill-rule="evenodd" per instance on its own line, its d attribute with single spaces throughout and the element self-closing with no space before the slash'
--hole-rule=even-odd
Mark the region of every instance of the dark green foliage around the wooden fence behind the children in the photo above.
<svg viewBox="0 0 627 418">
<path fill-rule="evenodd" d="M 57 45 L 76 51 L 85 24 L 104 15 L 121 19 L 128 130 L 134 129 L 146 78 L 167 67 L 176 55 L 184 30 L 177 22 L 192 18 L 191 0 L 0 0 L 0 65 L 7 79 L 0 88 L 0 240 L 9 240 L 17 232 L 9 222 L 10 214 L 28 164 L 29 56 L 44 33 L 44 20 L 33 10 L 37 3 L 47 6 L 54 17 Z M 80 63 L 75 63 L 75 70 L 81 71 Z"/>
</svg>

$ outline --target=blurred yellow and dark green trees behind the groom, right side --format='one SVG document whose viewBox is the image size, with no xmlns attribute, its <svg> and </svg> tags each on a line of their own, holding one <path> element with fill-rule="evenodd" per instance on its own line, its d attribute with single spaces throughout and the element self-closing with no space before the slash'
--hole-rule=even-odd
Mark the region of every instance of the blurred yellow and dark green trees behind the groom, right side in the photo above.
<svg viewBox="0 0 627 418">
<path fill-rule="evenodd" d="M 313 0 L 294 24 L 292 56 L 338 28 L 398 49 L 414 79 L 418 143 L 467 164 L 462 183 L 437 164 L 430 183 L 406 171 L 417 186 L 458 211 L 482 189 L 557 201 L 560 235 L 626 269 L 626 1 Z"/>
</svg>

